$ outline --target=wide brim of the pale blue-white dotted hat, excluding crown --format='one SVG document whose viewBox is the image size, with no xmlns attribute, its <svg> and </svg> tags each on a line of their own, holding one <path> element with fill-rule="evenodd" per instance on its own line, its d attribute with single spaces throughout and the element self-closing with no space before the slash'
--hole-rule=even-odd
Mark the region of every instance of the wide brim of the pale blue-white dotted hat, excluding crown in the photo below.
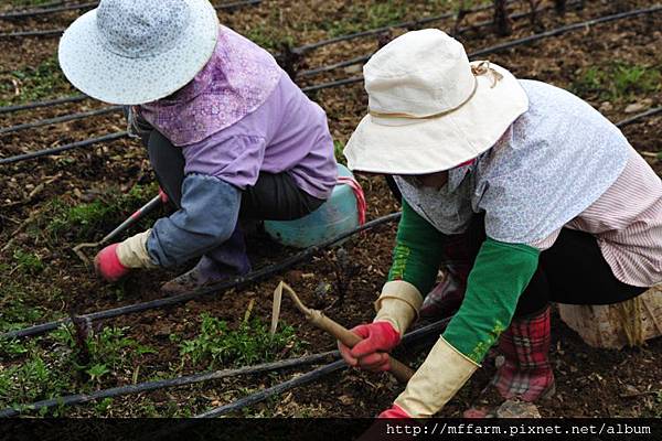
<svg viewBox="0 0 662 441">
<path fill-rule="evenodd" d="M 102 43 L 96 9 L 79 17 L 60 40 L 60 66 L 84 94 L 116 105 L 156 101 L 191 82 L 212 57 L 218 17 L 207 0 L 186 0 L 191 23 L 167 52 L 129 58 Z"/>
</svg>

